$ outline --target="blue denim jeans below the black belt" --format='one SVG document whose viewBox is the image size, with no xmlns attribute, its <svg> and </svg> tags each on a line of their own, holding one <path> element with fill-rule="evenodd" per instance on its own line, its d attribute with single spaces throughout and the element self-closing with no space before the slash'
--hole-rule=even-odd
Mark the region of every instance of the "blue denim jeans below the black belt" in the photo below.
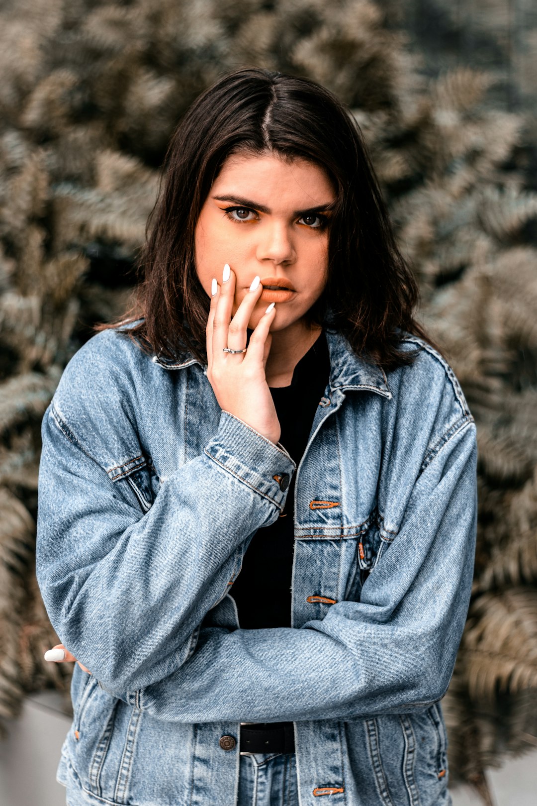
<svg viewBox="0 0 537 806">
<path fill-rule="evenodd" d="M 237 806 L 297 806 L 295 753 L 241 756 Z"/>
</svg>

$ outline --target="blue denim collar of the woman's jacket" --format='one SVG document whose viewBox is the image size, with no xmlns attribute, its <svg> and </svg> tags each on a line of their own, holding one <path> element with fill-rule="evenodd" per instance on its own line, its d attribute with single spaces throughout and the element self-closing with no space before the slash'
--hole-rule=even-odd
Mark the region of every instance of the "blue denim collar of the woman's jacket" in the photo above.
<svg viewBox="0 0 537 806">
<path fill-rule="evenodd" d="M 335 330 L 325 330 L 324 333 L 330 354 L 330 388 L 341 391 L 367 389 L 390 400 L 390 388 L 382 367 L 370 364 L 366 359 L 356 355 L 341 333 Z M 154 355 L 153 361 L 165 369 L 184 369 L 192 364 L 200 364 L 204 372 L 207 370 L 206 366 L 188 351 L 178 351 L 173 359 Z"/>
</svg>

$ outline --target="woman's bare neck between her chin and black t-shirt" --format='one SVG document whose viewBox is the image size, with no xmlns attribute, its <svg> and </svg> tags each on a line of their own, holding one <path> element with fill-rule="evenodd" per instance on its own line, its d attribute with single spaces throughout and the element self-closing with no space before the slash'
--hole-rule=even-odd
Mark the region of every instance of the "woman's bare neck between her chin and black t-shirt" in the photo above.
<svg viewBox="0 0 537 806">
<path fill-rule="evenodd" d="M 319 325 L 308 326 L 302 320 L 271 334 L 271 352 L 266 359 L 266 383 L 272 387 L 291 384 L 299 360 L 319 337 Z"/>
</svg>

